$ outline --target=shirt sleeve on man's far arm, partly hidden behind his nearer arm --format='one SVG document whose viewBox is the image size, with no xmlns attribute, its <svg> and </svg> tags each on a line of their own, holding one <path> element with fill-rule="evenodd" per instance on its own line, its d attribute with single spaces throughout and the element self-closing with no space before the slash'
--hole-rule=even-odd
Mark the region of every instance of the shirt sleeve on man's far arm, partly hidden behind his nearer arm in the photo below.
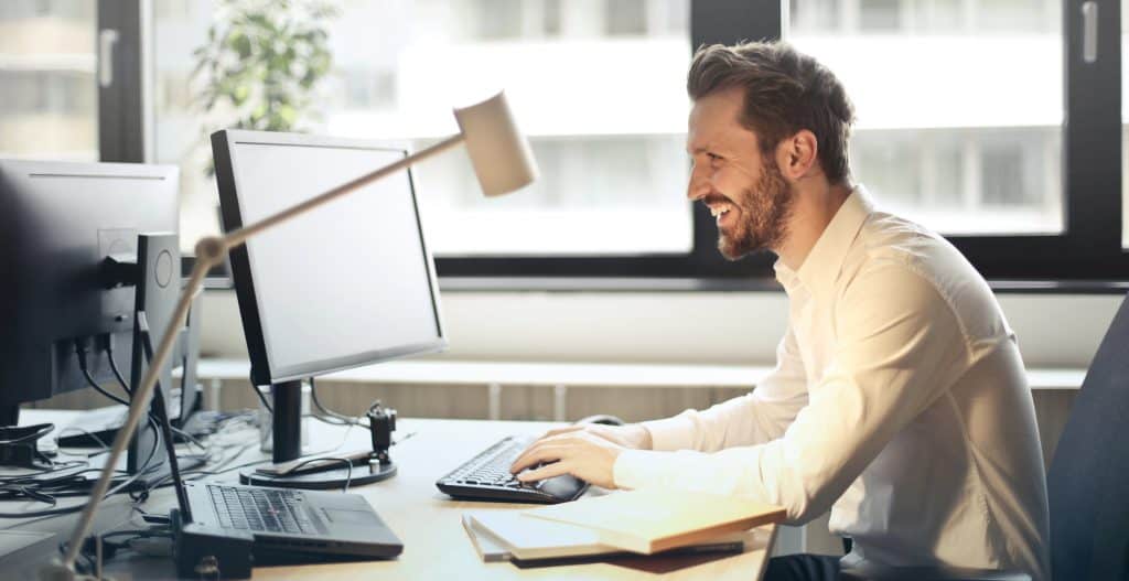
<svg viewBox="0 0 1129 581">
<path fill-rule="evenodd" d="M 717 451 L 780 438 L 807 405 L 807 378 L 791 325 L 777 346 L 776 368 L 749 394 L 699 412 L 644 422 L 653 450 Z"/>
</svg>

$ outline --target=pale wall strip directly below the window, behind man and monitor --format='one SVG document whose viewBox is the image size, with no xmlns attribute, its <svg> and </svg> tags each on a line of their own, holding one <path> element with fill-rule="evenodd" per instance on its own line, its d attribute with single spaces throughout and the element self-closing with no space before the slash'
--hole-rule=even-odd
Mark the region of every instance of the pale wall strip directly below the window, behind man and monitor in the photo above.
<svg viewBox="0 0 1129 581">
<path fill-rule="evenodd" d="M 1088 366 L 1120 294 L 1000 294 L 1029 367 Z M 449 359 L 771 363 L 778 292 L 447 292 Z M 246 356 L 233 291 L 204 298 L 205 355 Z"/>
</svg>

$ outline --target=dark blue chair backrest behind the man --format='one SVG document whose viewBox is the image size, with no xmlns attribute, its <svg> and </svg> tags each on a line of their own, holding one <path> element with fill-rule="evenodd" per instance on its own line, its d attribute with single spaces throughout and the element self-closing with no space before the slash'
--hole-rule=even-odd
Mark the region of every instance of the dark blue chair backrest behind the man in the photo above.
<svg viewBox="0 0 1129 581">
<path fill-rule="evenodd" d="M 1047 485 L 1053 579 L 1129 579 L 1129 298 L 1089 364 Z"/>
</svg>

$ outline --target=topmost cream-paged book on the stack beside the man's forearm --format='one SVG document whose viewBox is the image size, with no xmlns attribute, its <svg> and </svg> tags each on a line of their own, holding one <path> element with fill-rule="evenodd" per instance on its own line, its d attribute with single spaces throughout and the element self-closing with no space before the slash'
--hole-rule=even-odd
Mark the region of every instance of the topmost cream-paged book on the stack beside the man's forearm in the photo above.
<svg viewBox="0 0 1129 581">
<path fill-rule="evenodd" d="M 780 522 L 785 510 L 741 496 L 641 488 L 526 510 L 524 514 L 586 527 L 604 545 L 649 555 Z"/>
</svg>

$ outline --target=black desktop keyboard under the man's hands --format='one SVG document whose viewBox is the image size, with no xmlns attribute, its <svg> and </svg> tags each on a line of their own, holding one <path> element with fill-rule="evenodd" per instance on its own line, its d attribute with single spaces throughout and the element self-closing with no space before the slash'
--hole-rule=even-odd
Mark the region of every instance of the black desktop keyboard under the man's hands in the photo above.
<svg viewBox="0 0 1129 581">
<path fill-rule="evenodd" d="M 535 483 L 522 483 L 509 473 L 510 465 L 535 438 L 510 435 L 471 458 L 436 486 L 457 499 L 536 502 L 551 504 L 575 500 L 588 490 L 588 483 L 562 475 Z"/>
</svg>

